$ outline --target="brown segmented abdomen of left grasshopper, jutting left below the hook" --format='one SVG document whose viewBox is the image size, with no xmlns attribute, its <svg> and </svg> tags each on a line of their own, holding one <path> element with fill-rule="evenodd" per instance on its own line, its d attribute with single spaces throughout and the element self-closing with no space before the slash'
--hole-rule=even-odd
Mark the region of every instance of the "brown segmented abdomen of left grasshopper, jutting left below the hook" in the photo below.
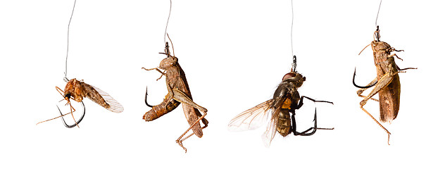
<svg viewBox="0 0 445 169">
<path fill-rule="evenodd" d="M 164 101 L 162 101 L 161 104 L 153 106 L 150 111 L 145 113 L 143 119 L 146 121 L 155 120 L 156 118 L 159 118 L 162 115 L 175 110 L 175 108 L 177 108 L 177 106 L 179 106 L 180 104 L 181 103 L 179 101 L 168 101 L 167 99 L 165 99 Z"/>
</svg>

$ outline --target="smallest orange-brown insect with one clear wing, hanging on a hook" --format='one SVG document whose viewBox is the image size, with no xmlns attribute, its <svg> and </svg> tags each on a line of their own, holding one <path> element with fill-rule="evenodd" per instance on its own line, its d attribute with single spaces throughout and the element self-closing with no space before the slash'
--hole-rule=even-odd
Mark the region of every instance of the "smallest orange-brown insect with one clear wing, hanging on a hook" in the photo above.
<svg viewBox="0 0 445 169">
<path fill-rule="evenodd" d="M 111 97 L 109 94 L 107 94 L 106 92 L 102 91 L 101 89 L 99 89 L 97 87 L 94 87 L 94 86 L 89 85 L 85 82 L 82 82 L 81 80 L 72 79 L 67 82 L 67 84 L 65 86 L 65 91 L 63 91 L 61 88 L 58 88 L 58 87 L 56 87 L 56 90 L 58 93 L 60 93 L 63 96 L 63 99 L 65 99 L 65 101 L 67 101 L 67 103 L 65 105 L 70 106 L 70 113 L 63 114 L 60 112 L 60 109 L 59 109 L 61 116 L 56 117 L 56 118 L 62 118 L 65 127 L 68 127 L 68 128 L 75 127 L 75 126 L 79 127 L 78 124 L 80 123 L 80 121 L 82 121 L 82 119 L 85 115 L 85 111 L 83 111 L 82 117 L 78 121 L 75 120 L 74 125 L 67 125 L 65 123 L 65 120 L 63 119 L 64 115 L 71 114 L 74 119 L 73 113 L 75 112 L 75 108 L 73 106 L 71 106 L 70 99 L 73 99 L 74 101 L 82 103 L 83 108 L 84 108 L 84 104 L 83 104 L 82 100 L 84 97 L 87 97 L 88 99 L 91 99 L 92 101 L 94 101 L 96 104 L 99 104 L 100 106 L 106 108 L 108 111 L 112 111 L 115 113 L 120 113 L 120 112 L 124 111 L 123 106 L 120 105 L 118 103 L 118 101 L 115 101 L 115 99 L 113 99 L 113 97 Z M 56 118 L 52 118 L 49 120 L 54 120 Z M 43 122 L 46 122 L 49 120 L 44 120 L 39 123 L 43 123 Z M 39 124 L 39 123 L 37 123 L 37 124 Z"/>
</svg>

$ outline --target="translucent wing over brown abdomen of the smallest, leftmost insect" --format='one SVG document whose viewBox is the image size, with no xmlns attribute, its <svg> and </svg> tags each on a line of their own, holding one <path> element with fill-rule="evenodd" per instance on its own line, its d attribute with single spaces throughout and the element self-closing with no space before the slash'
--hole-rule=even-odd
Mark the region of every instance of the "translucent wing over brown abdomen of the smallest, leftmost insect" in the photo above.
<svg viewBox="0 0 445 169">
<path fill-rule="evenodd" d="M 82 86 L 84 87 L 84 92 L 87 95 L 87 98 L 91 99 L 96 104 L 99 104 L 102 107 L 106 108 L 108 111 L 113 111 L 114 113 L 120 113 L 124 111 L 124 107 L 120 105 L 118 101 L 113 99 L 110 94 L 84 82 L 82 82 Z"/>
</svg>

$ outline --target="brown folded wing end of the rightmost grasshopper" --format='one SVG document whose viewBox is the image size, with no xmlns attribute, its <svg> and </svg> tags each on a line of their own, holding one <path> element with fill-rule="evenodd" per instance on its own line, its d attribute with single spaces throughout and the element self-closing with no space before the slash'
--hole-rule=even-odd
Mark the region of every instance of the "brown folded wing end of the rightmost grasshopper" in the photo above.
<svg viewBox="0 0 445 169">
<path fill-rule="evenodd" d="M 400 106 L 400 80 L 394 75 L 392 81 L 379 92 L 380 121 L 383 123 L 396 119 Z"/>
</svg>

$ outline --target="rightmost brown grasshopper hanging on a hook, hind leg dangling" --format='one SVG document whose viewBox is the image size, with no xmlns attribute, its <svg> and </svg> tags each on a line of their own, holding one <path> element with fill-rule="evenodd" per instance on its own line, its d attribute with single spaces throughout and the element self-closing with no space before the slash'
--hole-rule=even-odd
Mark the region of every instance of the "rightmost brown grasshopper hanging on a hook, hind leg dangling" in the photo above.
<svg viewBox="0 0 445 169">
<path fill-rule="evenodd" d="M 374 32 L 374 41 L 371 42 L 371 44 L 368 44 L 368 46 L 371 46 L 372 53 L 374 54 L 374 63 L 375 67 L 377 69 L 377 77 L 375 77 L 374 80 L 372 80 L 368 86 L 361 87 L 358 86 L 355 82 L 356 77 L 356 71 L 354 70 L 353 75 L 353 85 L 359 89 L 357 91 L 358 96 L 361 96 L 365 99 L 363 99 L 360 102 L 360 108 L 367 113 L 372 120 L 375 121 L 382 129 L 387 132 L 388 134 L 388 144 L 389 144 L 389 132 L 385 127 L 383 127 L 382 124 L 379 123 L 379 121 L 375 120 L 374 117 L 368 111 L 363 108 L 365 106 L 366 102 L 369 99 L 372 99 L 374 101 L 379 101 L 380 103 L 380 121 L 382 123 L 391 122 L 397 117 L 397 114 L 399 113 L 399 106 L 400 106 L 400 80 L 399 80 L 399 73 L 405 73 L 406 71 L 401 70 L 407 70 L 407 69 L 417 69 L 417 68 L 399 68 L 399 66 L 396 65 L 396 62 L 394 61 L 394 56 L 396 58 L 399 58 L 396 54 L 391 54 L 392 51 L 403 51 L 403 50 L 396 50 L 394 47 L 391 47 L 387 42 L 381 42 L 380 41 L 380 30 L 379 26 L 377 26 L 377 30 Z M 365 46 L 365 49 L 366 47 Z M 363 49 L 363 50 L 365 50 Z M 362 51 L 363 51 L 362 50 Z M 361 51 L 361 52 L 362 52 Z M 360 54 L 361 54 L 360 52 Z M 359 54 L 359 55 L 360 55 Z M 403 61 L 403 59 L 399 58 Z M 374 86 L 374 89 L 368 94 L 368 96 L 363 96 L 362 93 Z M 373 99 L 372 96 L 375 94 L 379 94 L 379 99 Z"/>
</svg>

